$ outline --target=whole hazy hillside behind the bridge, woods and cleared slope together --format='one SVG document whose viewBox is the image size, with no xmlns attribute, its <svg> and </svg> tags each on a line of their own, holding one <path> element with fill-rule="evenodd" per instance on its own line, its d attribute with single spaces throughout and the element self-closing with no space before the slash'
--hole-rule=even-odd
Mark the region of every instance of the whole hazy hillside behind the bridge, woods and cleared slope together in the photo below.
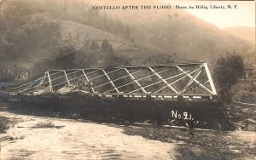
<svg viewBox="0 0 256 160">
<path fill-rule="evenodd" d="M 71 52 L 79 54 L 74 64 L 78 61 L 85 64 L 90 57 L 98 61 L 111 59 L 102 52 L 104 40 L 118 60 L 129 61 L 125 64 L 130 65 L 172 61 L 212 63 L 228 52 L 247 55 L 247 62 L 255 62 L 251 58 L 255 53 L 252 43 L 183 10 L 107 12 L 91 9 L 92 2 L 67 2 L 4 3 L 0 10 L 1 66 L 33 69 L 35 63 L 47 59 L 48 65 L 42 66 L 55 68 L 55 59 Z M 73 67 L 85 67 L 79 64 Z"/>
</svg>

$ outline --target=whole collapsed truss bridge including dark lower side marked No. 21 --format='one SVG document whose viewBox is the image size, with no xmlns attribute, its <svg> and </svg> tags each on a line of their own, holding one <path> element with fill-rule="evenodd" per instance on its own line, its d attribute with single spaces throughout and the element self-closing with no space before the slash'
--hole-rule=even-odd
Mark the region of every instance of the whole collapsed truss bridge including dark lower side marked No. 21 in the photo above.
<svg viewBox="0 0 256 160">
<path fill-rule="evenodd" d="M 51 70 L 8 92 L 26 104 L 129 113 L 135 119 L 224 117 L 207 63 Z"/>
</svg>

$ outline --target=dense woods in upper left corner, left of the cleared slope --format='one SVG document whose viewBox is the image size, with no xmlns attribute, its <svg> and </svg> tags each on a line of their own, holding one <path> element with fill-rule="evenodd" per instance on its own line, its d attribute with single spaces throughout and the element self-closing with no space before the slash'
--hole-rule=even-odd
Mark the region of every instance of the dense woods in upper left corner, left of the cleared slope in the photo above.
<svg viewBox="0 0 256 160">
<path fill-rule="evenodd" d="M 60 25 L 39 1 L 12 0 L 1 7 L 0 58 L 13 60 L 60 37 Z"/>
</svg>

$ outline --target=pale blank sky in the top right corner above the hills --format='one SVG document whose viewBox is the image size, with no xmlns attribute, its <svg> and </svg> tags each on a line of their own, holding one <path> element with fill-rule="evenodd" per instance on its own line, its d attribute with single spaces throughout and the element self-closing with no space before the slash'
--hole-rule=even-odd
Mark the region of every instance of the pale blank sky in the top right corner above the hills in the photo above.
<svg viewBox="0 0 256 160">
<path fill-rule="evenodd" d="M 232 26 L 255 27 L 255 2 L 254 1 L 171 1 L 159 0 L 162 3 L 175 5 L 237 5 L 238 9 L 185 9 L 191 14 L 212 23 L 219 28 Z"/>
</svg>

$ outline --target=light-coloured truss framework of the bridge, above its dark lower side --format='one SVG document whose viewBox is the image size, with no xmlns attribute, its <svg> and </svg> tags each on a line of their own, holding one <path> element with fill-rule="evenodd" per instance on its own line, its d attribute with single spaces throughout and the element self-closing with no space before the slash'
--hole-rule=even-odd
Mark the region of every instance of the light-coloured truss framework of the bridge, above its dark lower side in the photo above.
<svg viewBox="0 0 256 160">
<path fill-rule="evenodd" d="M 188 100 L 217 97 L 207 63 L 51 70 L 8 92 Z"/>
</svg>

